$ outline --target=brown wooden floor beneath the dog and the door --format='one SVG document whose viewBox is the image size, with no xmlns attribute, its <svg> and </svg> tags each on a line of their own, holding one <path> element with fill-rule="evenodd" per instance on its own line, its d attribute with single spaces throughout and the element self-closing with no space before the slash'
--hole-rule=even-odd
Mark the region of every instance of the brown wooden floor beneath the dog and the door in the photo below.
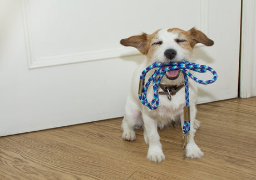
<svg viewBox="0 0 256 180">
<path fill-rule="evenodd" d="M 0 137 L 0 179 L 256 179 L 256 97 L 198 106 L 195 141 L 205 156 L 183 160 L 181 130 L 160 130 L 166 160 L 146 159 L 142 130 L 121 139 L 121 118 Z"/>
</svg>

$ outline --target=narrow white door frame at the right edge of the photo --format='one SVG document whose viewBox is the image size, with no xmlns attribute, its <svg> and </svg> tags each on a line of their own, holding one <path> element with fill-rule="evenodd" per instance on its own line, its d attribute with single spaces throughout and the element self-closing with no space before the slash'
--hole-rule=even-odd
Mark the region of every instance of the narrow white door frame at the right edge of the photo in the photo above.
<svg viewBox="0 0 256 180">
<path fill-rule="evenodd" d="M 240 97 L 256 96 L 256 2 L 243 1 Z"/>
</svg>

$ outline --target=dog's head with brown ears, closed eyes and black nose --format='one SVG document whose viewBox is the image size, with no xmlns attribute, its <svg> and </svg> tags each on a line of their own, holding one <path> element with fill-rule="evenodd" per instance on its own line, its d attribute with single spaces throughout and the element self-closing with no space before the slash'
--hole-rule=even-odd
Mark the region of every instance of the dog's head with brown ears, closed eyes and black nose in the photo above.
<svg viewBox="0 0 256 180">
<path fill-rule="evenodd" d="M 214 42 L 195 28 L 188 31 L 173 28 L 160 29 L 152 34 L 134 35 L 130 38 L 122 39 L 120 43 L 124 46 L 137 48 L 147 56 L 147 64 L 149 65 L 156 61 L 160 63 L 189 61 L 195 44 L 202 43 L 211 46 Z M 179 76 L 179 71 L 170 71 L 168 74 L 169 79 L 176 79 Z"/>
</svg>

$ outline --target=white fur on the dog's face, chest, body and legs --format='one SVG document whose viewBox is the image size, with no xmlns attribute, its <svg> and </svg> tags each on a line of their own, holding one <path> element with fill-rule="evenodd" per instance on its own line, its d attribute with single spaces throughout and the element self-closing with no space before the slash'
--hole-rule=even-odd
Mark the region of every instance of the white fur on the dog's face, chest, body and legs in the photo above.
<svg viewBox="0 0 256 180">
<path fill-rule="evenodd" d="M 138 97 L 139 79 L 141 72 L 149 65 L 155 61 L 161 61 L 166 63 L 166 58 L 164 52 L 166 49 L 175 49 L 177 55 L 173 59 L 174 61 L 180 61 L 183 59 L 190 60 L 191 50 L 182 48 L 175 39 L 178 38 L 177 32 L 168 32 L 167 29 L 159 30 L 157 35 L 152 38 L 154 43 L 157 40 L 163 40 L 163 44 L 159 46 L 154 51 L 154 54 L 150 57 L 147 56 L 147 60 L 140 64 L 132 78 L 131 90 L 127 96 L 126 106 L 125 106 L 125 116 L 122 121 L 122 129 L 124 133 L 122 138 L 124 140 L 135 140 L 135 126 L 142 126 L 144 128 L 144 140 L 147 145 L 149 145 L 149 150 L 147 152 L 147 158 L 152 162 L 161 162 L 165 160 L 165 156 L 160 143 L 160 137 L 157 132 L 157 127 L 163 128 L 170 124 L 171 121 L 181 121 L 181 129 L 184 124 L 183 107 L 185 106 L 185 88 L 182 88 L 172 96 L 171 101 L 165 95 L 159 95 L 160 104 L 156 110 L 149 110 L 146 106 L 142 105 Z M 149 75 L 147 75 L 149 76 Z M 176 80 L 169 80 L 163 78 L 164 84 L 176 84 L 179 85 L 183 82 L 183 74 Z M 160 89 L 160 88 L 159 88 Z M 152 87 L 149 88 L 147 94 L 152 94 Z M 200 148 L 196 145 L 194 141 L 194 134 L 196 129 L 199 128 L 200 122 L 195 120 L 196 116 L 196 96 L 197 96 L 196 83 L 189 79 L 189 98 L 190 98 L 190 115 L 191 115 L 191 130 L 188 136 L 188 145 L 186 147 L 186 157 L 190 158 L 201 158 L 204 153 L 201 152 Z M 149 97 L 150 99 L 150 97 Z M 180 133 L 182 135 L 182 133 Z M 180 136 L 181 137 L 181 136 Z M 182 138 L 182 137 L 181 137 Z M 180 150 L 182 151 L 182 150 Z"/>
</svg>

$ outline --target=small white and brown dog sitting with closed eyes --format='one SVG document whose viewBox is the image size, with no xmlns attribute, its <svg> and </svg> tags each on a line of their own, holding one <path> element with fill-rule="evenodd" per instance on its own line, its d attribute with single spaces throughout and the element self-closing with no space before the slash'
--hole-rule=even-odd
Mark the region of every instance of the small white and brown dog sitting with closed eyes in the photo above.
<svg viewBox="0 0 256 180">
<path fill-rule="evenodd" d="M 132 77 L 131 89 L 126 99 L 124 120 L 122 120 L 121 125 L 124 131 L 122 138 L 127 141 L 135 140 L 134 128 L 142 126 L 145 143 L 149 145 L 147 158 L 152 162 L 159 163 L 165 160 L 165 155 L 162 150 L 157 127 L 164 128 L 173 122 L 180 122 L 181 128 L 184 125 L 184 76 L 179 70 L 167 71 L 161 80 L 159 88 L 159 91 L 163 91 L 165 95 L 161 95 L 159 92 L 159 107 L 156 110 L 150 110 L 142 105 L 138 97 L 141 72 L 156 61 L 160 63 L 179 62 L 181 60 L 192 61 L 195 44 L 201 43 L 211 46 L 214 42 L 196 28 L 191 28 L 188 31 L 171 28 L 159 29 L 152 34 L 142 33 L 134 35 L 122 39 L 120 43 L 126 47 L 135 47 L 141 54 L 146 55 L 146 60 L 137 67 Z M 146 77 L 148 78 L 151 75 L 152 72 L 149 71 Z M 173 88 L 175 91 L 171 95 L 171 100 L 166 96 L 168 87 Z M 147 91 L 148 98 L 151 99 L 153 94 L 151 86 Z M 189 78 L 191 125 L 185 151 L 185 156 L 189 158 L 201 158 L 204 155 L 194 141 L 195 132 L 200 126 L 200 121 L 195 119 L 197 94 L 196 83 Z"/>
</svg>

